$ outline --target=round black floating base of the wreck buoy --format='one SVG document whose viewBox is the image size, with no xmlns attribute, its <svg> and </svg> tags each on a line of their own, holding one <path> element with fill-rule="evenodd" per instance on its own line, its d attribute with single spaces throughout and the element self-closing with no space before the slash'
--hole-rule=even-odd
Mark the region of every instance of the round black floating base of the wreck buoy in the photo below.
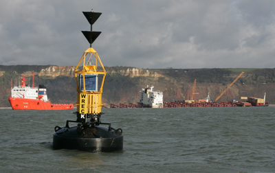
<svg viewBox="0 0 275 173">
<path fill-rule="evenodd" d="M 69 149 L 88 152 L 113 152 L 123 149 L 123 136 L 115 130 L 102 126 L 87 128 L 79 132 L 76 126 L 61 128 L 54 132 L 54 150 Z"/>
</svg>

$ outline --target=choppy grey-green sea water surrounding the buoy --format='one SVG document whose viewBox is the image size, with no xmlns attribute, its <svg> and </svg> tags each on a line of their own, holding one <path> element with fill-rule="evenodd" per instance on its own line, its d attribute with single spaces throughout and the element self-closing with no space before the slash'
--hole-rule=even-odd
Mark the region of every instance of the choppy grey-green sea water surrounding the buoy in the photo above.
<svg viewBox="0 0 275 173">
<path fill-rule="evenodd" d="M 275 107 L 102 111 L 122 151 L 52 150 L 72 110 L 0 109 L 0 172 L 275 172 Z"/>
</svg>

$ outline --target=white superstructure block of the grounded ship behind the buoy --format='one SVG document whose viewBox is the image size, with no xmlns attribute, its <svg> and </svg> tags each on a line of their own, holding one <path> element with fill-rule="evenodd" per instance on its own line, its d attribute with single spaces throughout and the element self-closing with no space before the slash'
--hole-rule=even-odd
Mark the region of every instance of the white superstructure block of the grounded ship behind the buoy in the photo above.
<svg viewBox="0 0 275 173">
<path fill-rule="evenodd" d="M 162 91 L 153 90 L 154 86 L 147 87 L 140 91 L 141 97 L 138 104 L 148 108 L 163 108 L 163 93 Z"/>
</svg>

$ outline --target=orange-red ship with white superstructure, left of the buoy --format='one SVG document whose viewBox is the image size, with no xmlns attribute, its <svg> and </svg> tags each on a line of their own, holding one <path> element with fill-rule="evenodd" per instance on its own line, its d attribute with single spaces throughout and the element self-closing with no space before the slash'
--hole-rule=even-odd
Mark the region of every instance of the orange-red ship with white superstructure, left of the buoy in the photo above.
<svg viewBox="0 0 275 173">
<path fill-rule="evenodd" d="M 33 75 L 35 73 L 32 73 Z M 21 86 L 14 86 L 9 97 L 10 106 L 15 110 L 64 110 L 74 108 L 73 104 L 51 104 L 47 99 L 47 90 L 43 84 L 34 87 L 26 86 L 24 73 L 21 77 Z"/>
</svg>

